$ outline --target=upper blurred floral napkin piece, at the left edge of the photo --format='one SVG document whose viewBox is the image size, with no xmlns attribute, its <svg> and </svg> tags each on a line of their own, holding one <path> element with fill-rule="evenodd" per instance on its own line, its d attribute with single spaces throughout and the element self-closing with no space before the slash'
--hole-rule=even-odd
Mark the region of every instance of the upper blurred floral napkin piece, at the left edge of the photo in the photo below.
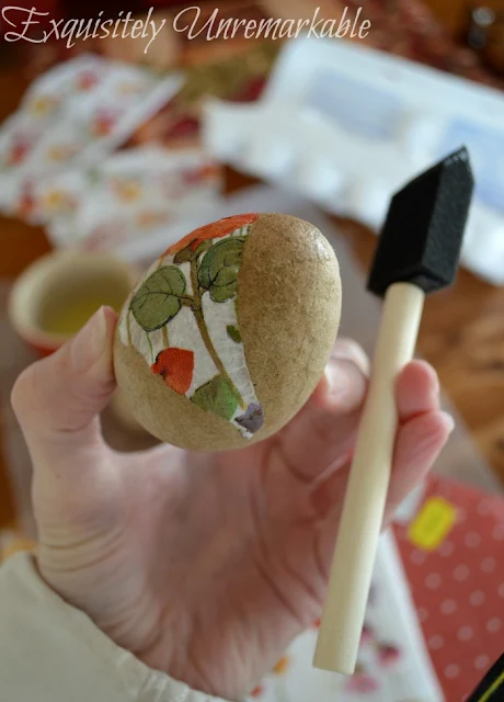
<svg viewBox="0 0 504 702">
<path fill-rule="evenodd" d="M 181 84 L 179 76 L 95 55 L 51 68 L 26 91 L 0 128 L 0 210 L 47 220 L 37 183 L 102 161 L 151 117 Z"/>
</svg>

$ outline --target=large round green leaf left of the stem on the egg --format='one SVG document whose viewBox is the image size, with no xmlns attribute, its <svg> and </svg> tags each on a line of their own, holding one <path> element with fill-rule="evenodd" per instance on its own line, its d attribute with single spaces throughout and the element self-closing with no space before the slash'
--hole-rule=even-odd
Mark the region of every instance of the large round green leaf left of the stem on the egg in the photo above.
<svg viewBox="0 0 504 702">
<path fill-rule="evenodd" d="M 163 265 L 140 285 L 129 309 L 146 331 L 160 329 L 173 319 L 182 307 L 185 278 L 176 265 Z"/>
</svg>

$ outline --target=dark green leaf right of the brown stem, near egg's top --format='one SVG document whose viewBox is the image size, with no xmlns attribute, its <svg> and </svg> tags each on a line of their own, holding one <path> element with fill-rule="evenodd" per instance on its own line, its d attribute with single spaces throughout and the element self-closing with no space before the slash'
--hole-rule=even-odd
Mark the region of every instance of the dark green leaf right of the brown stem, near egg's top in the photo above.
<svg viewBox="0 0 504 702">
<path fill-rule="evenodd" d="M 198 271 L 199 285 L 215 303 L 232 299 L 238 290 L 238 271 L 247 237 L 232 237 L 215 244 L 203 258 Z"/>
</svg>

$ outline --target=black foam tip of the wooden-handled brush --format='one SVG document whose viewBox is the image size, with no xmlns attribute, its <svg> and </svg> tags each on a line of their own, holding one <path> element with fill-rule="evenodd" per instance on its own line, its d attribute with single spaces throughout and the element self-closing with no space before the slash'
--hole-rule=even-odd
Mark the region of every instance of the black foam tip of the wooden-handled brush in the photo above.
<svg viewBox="0 0 504 702">
<path fill-rule="evenodd" d="M 396 193 L 378 240 L 368 290 L 385 295 L 392 283 L 425 293 L 450 285 L 457 273 L 474 189 L 465 147 Z"/>
</svg>

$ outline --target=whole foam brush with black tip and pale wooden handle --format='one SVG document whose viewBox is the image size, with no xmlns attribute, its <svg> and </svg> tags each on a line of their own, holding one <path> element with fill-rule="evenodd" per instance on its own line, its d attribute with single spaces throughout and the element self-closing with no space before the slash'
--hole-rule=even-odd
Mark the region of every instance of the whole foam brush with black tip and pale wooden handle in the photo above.
<svg viewBox="0 0 504 702">
<path fill-rule="evenodd" d="M 390 480 L 396 381 L 413 358 L 425 295 L 456 276 L 474 179 L 466 148 L 391 201 L 368 288 L 385 297 L 313 665 L 353 673 Z"/>
</svg>

